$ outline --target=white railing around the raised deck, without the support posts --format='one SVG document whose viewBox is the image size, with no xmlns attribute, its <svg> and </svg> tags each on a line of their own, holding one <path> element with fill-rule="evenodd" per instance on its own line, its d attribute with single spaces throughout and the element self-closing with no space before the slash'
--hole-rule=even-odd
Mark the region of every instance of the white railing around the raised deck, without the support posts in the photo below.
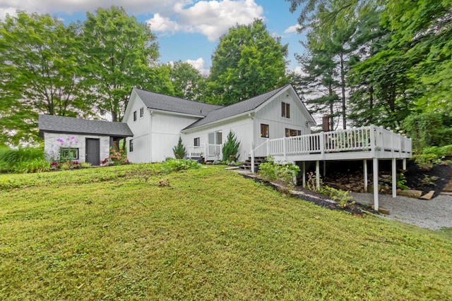
<svg viewBox="0 0 452 301">
<path fill-rule="evenodd" d="M 297 156 L 344 152 L 369 152 L 370 157 L 411 156 L 411 139 L 375 125 L 333 132 L 270 139 L 254 149 L 254 156 Z M 337 159 L 341 159 L 338 154 Z M 347 156 L 347 158 L 350 156 Z"/>
</svg>

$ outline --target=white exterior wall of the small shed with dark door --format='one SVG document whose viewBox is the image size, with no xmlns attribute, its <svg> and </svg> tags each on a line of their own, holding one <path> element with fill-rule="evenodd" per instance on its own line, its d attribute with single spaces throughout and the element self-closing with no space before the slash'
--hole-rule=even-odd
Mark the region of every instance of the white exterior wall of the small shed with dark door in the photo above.
<svg viewBox="0 0 452 301">
<path fill-rule="evenodd" d="M 110 137 L 97 135 L 73 135 L 64 133 L 44 133 L 44 154 L 48 161 L 59 159 L 60 147 L 78 148 L 78 159 L 74 161 L 85 162 L 85 139 L 100 140 L 100 161 L 109 156 Z"/>
</svg>

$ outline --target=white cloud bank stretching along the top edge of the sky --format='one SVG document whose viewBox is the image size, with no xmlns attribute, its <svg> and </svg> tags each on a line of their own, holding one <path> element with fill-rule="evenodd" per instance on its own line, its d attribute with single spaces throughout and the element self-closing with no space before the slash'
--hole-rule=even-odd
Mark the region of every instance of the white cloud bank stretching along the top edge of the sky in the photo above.
<svg viewBox="0 0 452 301">
<path fill-rule="evenodd" d="M 198 32 L 215 41 L 238 24 L 263 18 L 255 0 L 0 0 L 0 19 L 16 10 L 28 13 L 94 12 L 97 8 L 122 6 L 133 15 L 153 14 L 147 23 L 154 32 Z"/>
</svg>

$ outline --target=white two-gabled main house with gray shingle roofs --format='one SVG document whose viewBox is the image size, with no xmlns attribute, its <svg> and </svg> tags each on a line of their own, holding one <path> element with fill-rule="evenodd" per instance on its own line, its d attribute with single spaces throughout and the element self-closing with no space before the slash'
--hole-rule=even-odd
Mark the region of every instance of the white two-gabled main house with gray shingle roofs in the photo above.
<svg viewBox="0 0 452 301">
<path fill-rule="evenodd" d="M 247 159 L 252 146 L 269 139 L 309 134 L 315 124 L 292 85 L 230 106 L 133 89 L 123 122 L 133 132 L 127 145 L 129 161 L 135 163 L 174 156 L 172 148 L 179 137 L 189 156 L 220 159 L 221 145 L 230 130 L 240 142 L 240 159 Z"/>
</svg>

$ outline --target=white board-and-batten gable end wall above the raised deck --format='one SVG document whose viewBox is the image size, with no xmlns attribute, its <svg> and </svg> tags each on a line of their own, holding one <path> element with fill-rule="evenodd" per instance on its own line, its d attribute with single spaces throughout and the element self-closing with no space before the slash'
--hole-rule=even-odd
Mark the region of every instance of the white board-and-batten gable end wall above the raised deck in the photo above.
<svg viewBox="0 0 452 301">
<path fill-rule="evenodd" d="M 290 105 L 290 117 L 283 117 L 282 103 Z M 309 113 L 299 98 L 290 90 L 275 97 L 271 102 L 258 109 L 254 116 L 254 147 L 265 143 L 268 139 L 285 137 L 286 128 L 297 130 L 301 135 L 311 133 Z M 261 124 L 268 125 L 268 137 L 261 137 Z M 263 145 L 256 149 L 255 156 L 266 156 L 267 149 Z"/>
</svg>

